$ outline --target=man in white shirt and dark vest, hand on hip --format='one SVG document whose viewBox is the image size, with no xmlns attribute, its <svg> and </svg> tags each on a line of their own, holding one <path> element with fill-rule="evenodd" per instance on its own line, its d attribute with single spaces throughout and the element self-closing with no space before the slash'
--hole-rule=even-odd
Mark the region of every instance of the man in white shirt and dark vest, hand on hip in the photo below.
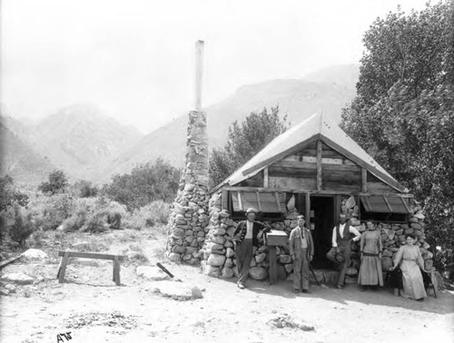
<svg viewBox="0 0 454 343">
<path fill-rule="evenodd" d="M 332 230 L 332 248 L 326 254 L 328 260 L 335 263 L 341 262 L 341 271 L 339 272 L 338 289 L 342 289 L 345 273 L 350 267 L 350 240 L 360 240 L 361 234 L 358 230 L 350 225 L 350 220 L 344 213 L 339 217 L 339 224 Z M 341 259 L 339 257 L 341 256 Z M 338 258 L 336 258 L 338 257 Z"/>
</svg>

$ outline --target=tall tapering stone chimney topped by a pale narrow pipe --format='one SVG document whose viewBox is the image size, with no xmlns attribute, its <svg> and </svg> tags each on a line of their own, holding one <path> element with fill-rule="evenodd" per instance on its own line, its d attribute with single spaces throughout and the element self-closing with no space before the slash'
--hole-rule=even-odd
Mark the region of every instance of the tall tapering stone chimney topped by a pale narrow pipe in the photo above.
<svg viewBox="0 0 454 343">
<path fill-rule="evenodd" d="M 208 218 L 208 139 L 202 112 L 203 42 L 195 43 L 194 110 L 189 113 L 186 156 L 180 187 L 173 202 L 167 238 L 167 257 L 197 264 L 202 256 Z"/>
</svg>

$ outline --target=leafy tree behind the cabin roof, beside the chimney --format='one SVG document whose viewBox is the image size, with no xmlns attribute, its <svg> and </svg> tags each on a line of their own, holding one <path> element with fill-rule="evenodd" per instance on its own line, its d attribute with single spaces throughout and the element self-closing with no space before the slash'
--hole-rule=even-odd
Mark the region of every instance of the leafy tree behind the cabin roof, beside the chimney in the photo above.
<svg viewBox="0 0 454 343">
<path fill-rule="evenodd" d="M 215 187 L 253 155 L 260 152 L 275 137 L 290 126 L 287 116 L 279 116 L 279 106 L 266 108 L 261 113 L 252 112 L 240 124 L 232 122 L 228 141 L 223 148 L 215 148 L 210 155 L 210 187 Z"/>
</svg>

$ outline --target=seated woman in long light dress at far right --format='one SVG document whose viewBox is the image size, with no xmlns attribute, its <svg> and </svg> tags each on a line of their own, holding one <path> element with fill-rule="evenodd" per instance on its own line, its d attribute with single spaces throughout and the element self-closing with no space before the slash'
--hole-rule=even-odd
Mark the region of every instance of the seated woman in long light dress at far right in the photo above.
<svg viewBox="0 0 454 343">
<path fill-rule="evenodd" d="M 424 260 L 422 260 L 419 248 L 414 245 L 416 240 L 415 236 L 406 235 L 405 237 L 407 244 L 400 246 L 399 251 L 394 258 L 394 266 L 391 270 L 394 270 L 400 265 L 403 286 L 400 295 L 402 297 L 422 300 L 427 297 L 421 274 L 421 270 L 424 270 Z"/>
</svg>

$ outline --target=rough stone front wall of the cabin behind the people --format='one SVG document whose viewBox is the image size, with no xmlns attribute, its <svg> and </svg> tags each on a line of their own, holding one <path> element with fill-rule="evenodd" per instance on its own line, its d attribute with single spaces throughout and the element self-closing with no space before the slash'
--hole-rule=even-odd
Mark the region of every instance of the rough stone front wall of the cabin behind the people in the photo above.
<svg viewBox="0 0 454 343">
<path fill-rule="evenodd" d="M 425 242 L 424 236 L 424 215 L 419 205 L 412 208 L 413 214 L 410 215 L 408 223 L 390 224 L 386 222 L 378 223 L 378 230 L 381 232 L 383 242 L 383 255 L 381 265 L 384 272 L 390 270 L 392 258 L 396 254 L 401 244 L 405 243 L 405 234 L 414 233 L 418 237 L 416 243 L 421 250 L 426 269 L 432 268 L 432 253 L 429 252 L 429 244 Z M 341 212 L 349 213 L 353 225 L 360 226 L 360 231 L 366 230 L 364 222 L 358 220 L 358 206 L 354 198 L 350 197 L 341 202 Z M 263 224 L 270 226 L 273 230 L 283 230 L 290 236 L 291 229 L 297 225 L 297 211 L 289 211 L 284 214 L 283 221 L 269 222 L 262 221 Z M 230 279 L 237 276 L 235 252 L 233 247 L 233 232 L 238 226 L 238 221 L 232 220 L 228 211 L 222 210 L 221 193 L 213 194 L 209 202 L 209 225 L 205 228 L 207 236 L 205 244 L 201 250 L 202 270 L 204 274 L 223 279 Z M 317 247 L 315 247 L 317 249 Z M 356 283 L 358 270 L 360 269 L 360 242 L 351 244 L 351 264 L 347 270 L 346 283 Z M 328 252 L 328 251 L 326 251 Z M 288 245 L 277 247 L 278 278 L 291 279 L 293 263 L 291 261 Z M 267 279 L 270 268 L 268 257 L 268 247 L 259 242 L 259 247 L 254 247 L 254 259 L 251 262 L 250 277 L 252 279 Z M 335 273 L 337 275 L 337 273 Z M 334 275 L 334 274 L 333 274 Z M 326 278 L 325 278 L 326 279 Z M 320 279 L 321 281 L 328 281 Z M 332 280 L 331 280 L 332 281 Z"/>
</svg>

